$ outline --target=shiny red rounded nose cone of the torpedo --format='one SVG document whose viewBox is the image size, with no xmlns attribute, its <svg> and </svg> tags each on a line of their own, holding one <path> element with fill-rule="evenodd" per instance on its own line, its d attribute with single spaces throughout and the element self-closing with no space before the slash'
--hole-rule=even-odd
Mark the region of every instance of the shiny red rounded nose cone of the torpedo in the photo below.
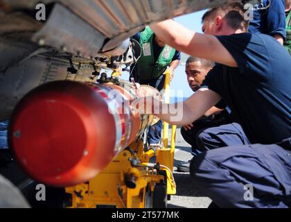
<svg viewBox="0 0 291 222">
<path fill-rule="evenodd" d="M 9 142 L 21 167 L 53 186 L 85 182 L 116 155 L 116 123 L 103 96 L 82 83 L 43 85 L 17 105 Z"/>
</svg>

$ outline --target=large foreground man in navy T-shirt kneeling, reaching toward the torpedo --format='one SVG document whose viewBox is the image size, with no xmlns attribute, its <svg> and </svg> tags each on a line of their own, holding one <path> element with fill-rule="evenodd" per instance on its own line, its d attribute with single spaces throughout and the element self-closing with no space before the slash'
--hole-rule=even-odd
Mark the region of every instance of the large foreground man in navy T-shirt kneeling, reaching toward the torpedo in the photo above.
<svg viewBox="0 0 291 222">
<path fill-rule="evenodd" d="M 238 3 L 209 10 L 203 21 L 205 34 L 172 20 L 151 26 L 175 49 L 218 63 L 202 89 L 178 105 L 178 112 L 162 113 L 171 106 L 160 101 L 155 101 L 152 112 L 169 123 L 185 125 L 224 99 L 250 144 L 193 157 L 193 186 L 219 207 L 290 207 L 291 58 L 274 38 L 246 33 L 247 21 Z"/>
</svg>

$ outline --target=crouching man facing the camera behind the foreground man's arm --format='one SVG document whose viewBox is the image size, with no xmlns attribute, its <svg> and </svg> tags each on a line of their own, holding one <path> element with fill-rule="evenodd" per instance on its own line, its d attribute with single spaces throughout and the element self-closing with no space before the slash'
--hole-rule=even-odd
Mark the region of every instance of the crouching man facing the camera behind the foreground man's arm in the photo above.
<svg viewBox="0 0 291 222">
<path fill-rule="evenodd" d="M 186 75 L 188 84 L 196 92 L 215 63 L 190 56 L 186 61 Z M 247 137 L 241 137 L 243 129 L 233 122 L 231 110 L 224 101 L 220 101 L 213 108 L 207 110 L 197 121 L 183 126 L 181 135 L 191 145 L 192 155 L 200 155 L 203 151 L 222 146 L 247 144 Z M 239 140 L 239 141 L 238 141 Z M 209 146 L 211 145 L 211 146 Z M 190 161 L 177 164 L 177 171 L 189 172 Z"/>
</svg>

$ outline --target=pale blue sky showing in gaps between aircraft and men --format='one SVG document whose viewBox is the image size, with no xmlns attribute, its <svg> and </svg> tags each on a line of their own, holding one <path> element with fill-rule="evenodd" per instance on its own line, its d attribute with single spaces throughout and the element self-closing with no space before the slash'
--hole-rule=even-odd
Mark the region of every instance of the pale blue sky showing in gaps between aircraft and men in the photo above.
<svg viewBox="0 0 291 222">
<path fill-rule="evenodd" d="M 204 15 L 204 12 L 206 12 L 206 10 L 202 10 L 200 12 L 194 12 L 194 13 L 191 13 L 188 15 L 183 15 L 180 17 L 176 17 L 175 21 L 179 22 L 179 24 L 182 24 L 183 26 L 186 26 L 187 28 L 189 28 L 195 32 L 202 33 L 201 19 L 202 19 L 202 16 Z M 188 56 L 186 56 L 186 58 L 187 57 Z M 128 76 L 129 76 L 129 74 L 127 72 L 123 72 L 121 77 L 123 79 L 128 80 Z M 171 82 L 170 89 L 175 90 L 175 95 L 171 95 L 171 96 L 175 96 L 175 97 L 189 97 L 193 94 L 190 87 L 188 87 L 184 64 L 179 65 L 179 67 L 177 67 L 177 69 L 175 70 L 175 77 Z M 179 90 L 180 93 L 182 90 L 183 95 L 178 94 L 177 90 Z"/>
</svg>

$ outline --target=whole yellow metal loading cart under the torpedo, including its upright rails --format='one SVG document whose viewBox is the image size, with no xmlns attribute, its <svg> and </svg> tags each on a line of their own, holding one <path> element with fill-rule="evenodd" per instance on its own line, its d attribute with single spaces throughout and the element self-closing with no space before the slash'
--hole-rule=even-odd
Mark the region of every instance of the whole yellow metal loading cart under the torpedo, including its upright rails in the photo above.
<svg viewBox="0 0 291 222">
<path fill-rule="evenodd" d="M 114 70 L 114 76 L 119 76 Z M 166 71 L 165 96 L 169 103 L 170 73 Z M 131 151 L 125 149 L 112 162 L 101 171 L 98 176 L 89 182 L 67 187 L 66 192 L 72 196 L 72 208 L 144 208 L 146 206 L 146 190 L 153 193 L 155 185 L 166 182 L 167 194 L 176 194 L 175 180 L 173 174 L 173 161 L 175 153 L 175 131 L 172 128 L 171 145 L 168 148 L 168 123 L 164 123 L 164 148 L 157 150 L 157 162 L 161 164 L 161 170 L 166 171 L 166 180 L 159 175 L 156 169 L 148 167 L 150 158 L 154 156 L 151 149 L 144 151 L 143 140 L 138 139 L 130 144 Z M 129 158 L 140 160 L 140 167 L 132 167 Z M 170 170 L 170 171 L 169 171 Z M 125 184 L 125 177 L 130 176 L 135 180 L 136 187 L 131 189 Z"/>
</svg>

